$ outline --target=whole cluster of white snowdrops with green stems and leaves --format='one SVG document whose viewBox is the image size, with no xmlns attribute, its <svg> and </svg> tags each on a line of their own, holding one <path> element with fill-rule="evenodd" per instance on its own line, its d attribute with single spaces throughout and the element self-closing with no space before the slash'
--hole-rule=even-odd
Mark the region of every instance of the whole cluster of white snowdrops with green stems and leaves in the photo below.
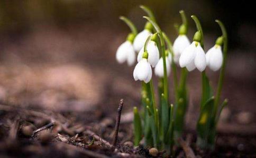
<svg viewBox="0 0 256 158">
<path fill-rule="evenodd" d="M 197 68 L 202 75 L 202 97 L 200 113 L 197 121 L 197 145 L 202 148 L 214 149 L 216 125 L 227 100 L 220 103 L 220 95 L 224 78 L 224 68 L 227 52 L 227 35 L 224 25 L 220 25 L 222 35 L 206 53 L 204 51 L 204 36 L 202 26 L 196 16 L 191 16 L 196 24 L 197 32 L 193 41 L 187 37 L 188 23 L 184 11 L 180 11 L 182 24 L 177 27 L 178 37 L 171 43 L 169 37 L 157 24 L 152 11 L 146 6 L 140 6 L 148 16 L 144 30 L 138 34 L 134 24 L 126 17 L 121 19 L 131 28 L 126 41 L 116 52 L 116 60 L 129 66 L 136 64 L 133 77 L 142 81 L 142 106 L 138 111 L 134 107 L 134 144 L 141 142 L 145 146 L 154 146 L 172 152 L 172 146 L 182 136 L 184 116 L 188 104 L 187 74 Z M 136 54 L 138 55 L 136 56 Z M 180 67 L 180 68 L 179 68 Z M 220 71 L 220 79 L 214 94 L 205 69 Z M 159 106 L 157 106 L 152 83 L 152 68 L 158 76 Z M 172 71 L 175 89 L 175 101 L 170 104 L 168 81 Z M 177 76 L 177 71 L 180 76 Z M 143 140 L 143 141 L 142 141 Z"/>
</svg>

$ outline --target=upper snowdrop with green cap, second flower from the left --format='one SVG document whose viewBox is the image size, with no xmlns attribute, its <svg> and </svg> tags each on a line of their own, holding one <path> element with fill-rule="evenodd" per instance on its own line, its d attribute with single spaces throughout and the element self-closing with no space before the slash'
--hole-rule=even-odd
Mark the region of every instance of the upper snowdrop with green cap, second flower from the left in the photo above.
<svg viewBox="0 0 256 158">
<path fill-rule="evenodd" d="M 152 34 L 152 29 L 153 26 L 151 25 L 151 23 L 147 22 L 145 24 L 144 30 L 134 38 L 133 47 L 136 52 L 139 52 L 144 46 L 144 43 L 147 40 L 148 36 Z"/>
</svg>

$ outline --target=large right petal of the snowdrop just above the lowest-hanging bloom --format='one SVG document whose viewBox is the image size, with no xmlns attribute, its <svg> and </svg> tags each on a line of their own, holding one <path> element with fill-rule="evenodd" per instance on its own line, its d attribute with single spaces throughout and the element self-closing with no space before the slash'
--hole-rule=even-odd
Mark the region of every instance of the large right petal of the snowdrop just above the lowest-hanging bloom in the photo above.
<svg viewBox="0 0 256 158">
<path fill-rule="evenodd" d="M 149 53 L 148 62 L 152 67 L 156 66 L 159 61 L 159 50 L 157 43 L 150 41 L 147 47 L 147 51 Z"/>
</svg>

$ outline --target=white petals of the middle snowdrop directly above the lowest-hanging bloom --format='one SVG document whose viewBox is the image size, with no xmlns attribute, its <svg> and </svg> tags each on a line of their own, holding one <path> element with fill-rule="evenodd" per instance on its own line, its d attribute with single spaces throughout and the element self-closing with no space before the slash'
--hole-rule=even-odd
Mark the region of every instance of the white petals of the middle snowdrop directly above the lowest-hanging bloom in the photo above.
<svg viewBox="0 0 256 158">
<path fill-rule="evenodd" d="M 152 67 L 156 66 L 159 61 L 159 50 L 157 47 L 157 43 L 154 41 L 150 41 L 147 46 L 147 51 L 149 53 L 148 62 Z M 137 57 L 138 62 L 142 60 L 143 53 L 144 53 L 144 46 L 141 48 L 138 54 L 138 57 Z"/>
</svg>

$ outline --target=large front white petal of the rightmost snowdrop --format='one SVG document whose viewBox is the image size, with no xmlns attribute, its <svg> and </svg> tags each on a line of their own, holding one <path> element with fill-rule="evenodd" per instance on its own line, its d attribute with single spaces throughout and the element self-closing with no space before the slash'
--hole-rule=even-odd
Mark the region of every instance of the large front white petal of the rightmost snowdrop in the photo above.
<svg viewBox="0 0 256 158">
<path fill-rule="evenodd" d="M 216 46 L 209 58 L 209 68 L 212 71 L 217 71 L 221 68 L 223 62 L 222 50 L 220 46 Z"/>
</svg>

